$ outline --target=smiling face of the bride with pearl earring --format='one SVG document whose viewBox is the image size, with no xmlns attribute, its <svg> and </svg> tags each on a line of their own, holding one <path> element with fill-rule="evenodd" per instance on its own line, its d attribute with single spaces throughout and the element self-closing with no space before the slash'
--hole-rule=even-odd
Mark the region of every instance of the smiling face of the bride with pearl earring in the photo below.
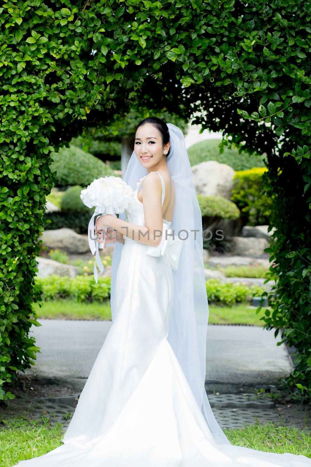
<svg viewBox="0 0 311 467">
<path fill-rule="evenodd" d="M 136 132 L 134 150 L 138 161 L 143 167 L 157 165 L 163 156 L 163 151 L 168 151 L 170 143 L 163 147 L 162 136 L 151 123 L 145 123 Z"/>
</svg>

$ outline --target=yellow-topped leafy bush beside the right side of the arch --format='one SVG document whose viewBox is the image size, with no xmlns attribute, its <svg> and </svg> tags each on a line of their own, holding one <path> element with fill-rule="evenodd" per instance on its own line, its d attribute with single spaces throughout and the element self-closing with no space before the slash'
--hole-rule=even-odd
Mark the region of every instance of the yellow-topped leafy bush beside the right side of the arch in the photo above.
<svg viewBox="0 0 311 467">
<path fill-rule="evenodd" d="M 264 191 L 263 174 L 266 168 L 239 170 L 233 177 L 231 200 L 241 211 L 244 225 L 269 225 L 272 199 Z"/>
</svg>

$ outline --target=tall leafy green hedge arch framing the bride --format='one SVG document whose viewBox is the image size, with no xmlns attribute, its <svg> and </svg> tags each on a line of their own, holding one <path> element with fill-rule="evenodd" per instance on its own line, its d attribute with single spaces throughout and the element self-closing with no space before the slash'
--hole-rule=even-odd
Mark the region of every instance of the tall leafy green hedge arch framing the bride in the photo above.
<svg viewBox="0 0 311 467">
<path fill-rule="evenodd" d="M 297 347 L 289 383 L 310 395 L 310 1 L 5 0 L 0 14 L 0 384 L 37 351 L 28 331 L 52 151 L 148 106 L 199 110 L 195 123 L 267 153 L 278 295 L 266 324 Z"/>
</svg>

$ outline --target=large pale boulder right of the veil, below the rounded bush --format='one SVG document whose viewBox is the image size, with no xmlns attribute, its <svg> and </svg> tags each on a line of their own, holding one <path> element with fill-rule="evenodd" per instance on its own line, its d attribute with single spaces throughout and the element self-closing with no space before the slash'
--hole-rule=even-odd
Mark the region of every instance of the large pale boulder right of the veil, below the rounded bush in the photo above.
<svg viewBox="0 0 311 467">
<path fill-rule="evenodd" d="M 231 198 L 235 171 L 229 165 L 216 161 L 201 162 L 192 167 L 192 173 L 197 194 Z"/>
</svg>

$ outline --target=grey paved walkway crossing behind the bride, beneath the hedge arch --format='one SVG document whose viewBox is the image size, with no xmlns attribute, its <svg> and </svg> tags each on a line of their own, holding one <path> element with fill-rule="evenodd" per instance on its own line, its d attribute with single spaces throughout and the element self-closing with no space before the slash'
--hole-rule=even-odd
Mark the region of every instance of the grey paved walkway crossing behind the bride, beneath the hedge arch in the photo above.
<svg viewBox="0 0 311 467">
<path fill-rule="evenodd" d="M 36 388 L 30 387 L 28 399 L 22 396 L 9 401 L 9 408 L 1 409 L 0 416 L 14 417 L 20 412 L 33 418 L 53 417 L 66 427 L 111 321 L 39 321 L 42 326 L 33 326 L 31 331 L 41 354 L 26 377 L 46 381 L 43 397 L 34 397 L 31 391 Z M 285 399 L 274 403 L 267 393 L 260 397 L 254 393 L 254 388 L 276 391 L 276 378 L 291 371 L 287 349 L 284 344 L 276 346 L 277 340 L 280 337 L 275 339 L 273 331 L 260 327 L 208 326 L 206 389 L 221 428 L 242 428 L 256 421 L 311 428 L 310 407 L 289 404 Z"/>
</svg>

